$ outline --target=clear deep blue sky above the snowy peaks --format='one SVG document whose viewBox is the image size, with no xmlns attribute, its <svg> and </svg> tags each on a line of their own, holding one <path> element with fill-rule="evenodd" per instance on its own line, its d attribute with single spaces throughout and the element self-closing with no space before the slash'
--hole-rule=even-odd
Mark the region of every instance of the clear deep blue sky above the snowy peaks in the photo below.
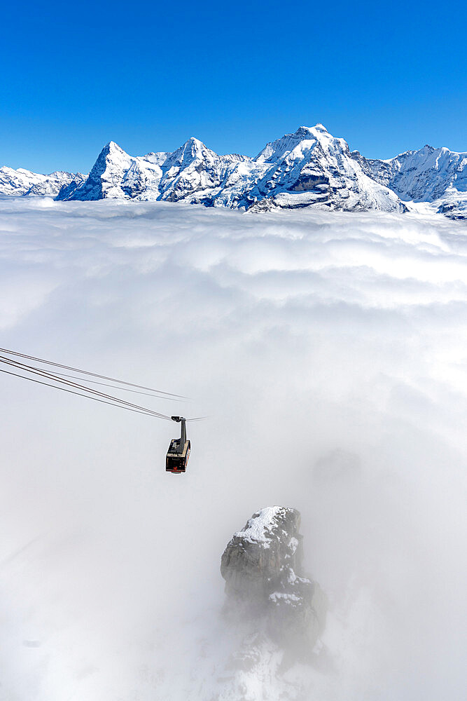
<svg viewBox="0 0 467 701">
<path fill-rule="evenodd" d="M 316 122 L 369 157 L 466 151 L 466 21 L 451 0 L 8 4 L 0 165 L 87 171 L 110 139 L 190 136 L 254 156 Z"/>
</svg>

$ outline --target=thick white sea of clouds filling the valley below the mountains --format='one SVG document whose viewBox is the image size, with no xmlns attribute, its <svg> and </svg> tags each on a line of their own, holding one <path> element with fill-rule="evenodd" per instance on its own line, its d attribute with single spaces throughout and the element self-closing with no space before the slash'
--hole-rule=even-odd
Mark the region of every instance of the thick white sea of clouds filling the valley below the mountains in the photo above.
<svg viewBox="0 0 467 701">
<path fill-rule="evenodd" d="M 465 224 L 0 200 L 0 339 L 208 416 L 166 475 L 175 424 L 0 374 L 2 701 L 227 699 L 221 553 L 274 504 L 330 599 L 305 696 L 461 699 Z"/>
</svg>

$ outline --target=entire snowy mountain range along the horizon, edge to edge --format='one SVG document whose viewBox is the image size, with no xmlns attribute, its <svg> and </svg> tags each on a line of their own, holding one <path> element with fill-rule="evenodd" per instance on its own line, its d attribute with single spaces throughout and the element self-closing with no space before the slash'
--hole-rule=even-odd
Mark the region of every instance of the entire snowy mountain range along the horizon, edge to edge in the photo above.
<svg viewBox="0 0 467 701">
<path fill-rule="evenodd" d="M 321 124 L 266 144 L 256 158 L 219 156 L 193 137 L 173 153 L 146 156 L 130 156 L 111 141 L 89 175 L 0 168 L 0 195 L 181 201 L 253 212 L 308 206 L 407 212 L 427 203 L 467 219 L 467 153 L 426 145 L 370 159 Z"/>
</svg>

